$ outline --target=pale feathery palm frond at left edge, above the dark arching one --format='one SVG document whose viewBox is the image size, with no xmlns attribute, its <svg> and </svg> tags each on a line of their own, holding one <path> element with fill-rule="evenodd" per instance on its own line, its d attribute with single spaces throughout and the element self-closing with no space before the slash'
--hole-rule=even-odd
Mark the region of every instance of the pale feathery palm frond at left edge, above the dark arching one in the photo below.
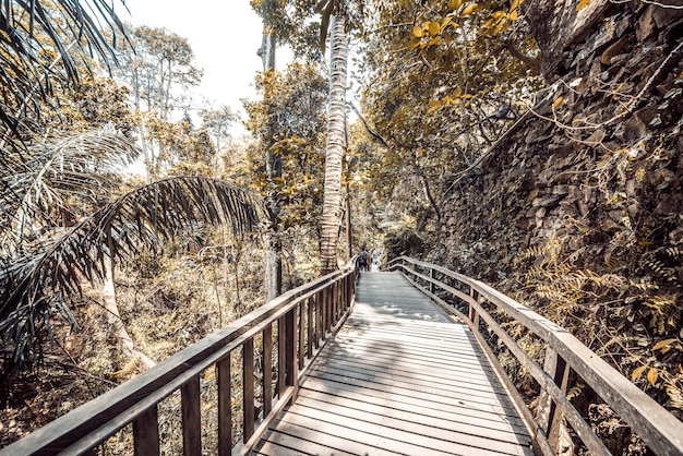
<svg viewBox="0 0 683 456">
<path fill-rule="evenodd" d="M 0 254 L 11 254 L 36 232 L 59 225 L 55 218 L 70 213 L 65 201 L 73 195 L 100 199 L 111 183 L 106 173 L 140 154 L 132 140 L 112 128 L 53 135 L 28 151 L 5 154 L 0 164 Z"/>
</svg>

